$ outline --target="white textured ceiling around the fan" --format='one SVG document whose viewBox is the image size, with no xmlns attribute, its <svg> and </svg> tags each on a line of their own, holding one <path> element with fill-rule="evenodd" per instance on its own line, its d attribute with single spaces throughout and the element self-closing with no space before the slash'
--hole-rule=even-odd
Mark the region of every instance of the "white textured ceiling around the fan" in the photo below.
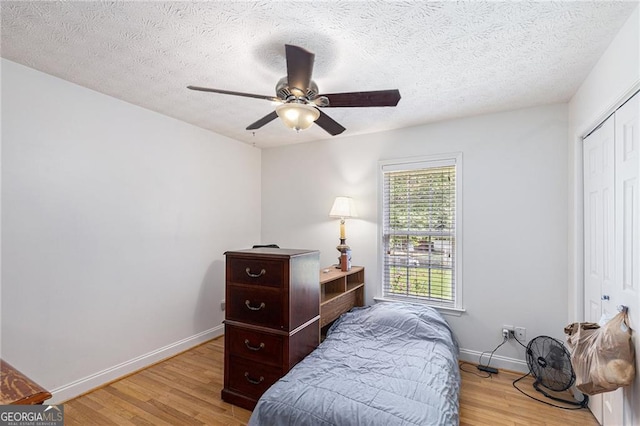
<svg viewBox="0 0 640 426">
<path fill-rule="evenodd" d="M 2 1 L 2 57 L 228 137 L 330 138 L 273 121 L 284 44 L 315 53 L 320 93 L 399 89 L 395 108 L 331 108 L 336 138 L 568 101 L 637 2 Z"/>
</svg>

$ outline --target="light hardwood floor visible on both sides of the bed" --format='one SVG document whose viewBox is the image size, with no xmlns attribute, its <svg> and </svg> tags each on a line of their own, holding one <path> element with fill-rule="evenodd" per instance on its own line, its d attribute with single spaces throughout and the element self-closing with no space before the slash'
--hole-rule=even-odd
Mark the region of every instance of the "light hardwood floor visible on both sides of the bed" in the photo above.
<svg viewBox="0 0 640 426">
<path fill-rule="evenodd" d="M 220 399 L 223 356 L 220 337 L 70 400 L 65 425 L 246 425 L 251 412 Z M 587 410 L 553 408 L 522 395 L 512 386 L 519 374 L 480 378 L 475 370 L 462 367 L 461 426 L 598 424 Z M 529 379 L 519 387 L 540 397 Z"/>
</svg>

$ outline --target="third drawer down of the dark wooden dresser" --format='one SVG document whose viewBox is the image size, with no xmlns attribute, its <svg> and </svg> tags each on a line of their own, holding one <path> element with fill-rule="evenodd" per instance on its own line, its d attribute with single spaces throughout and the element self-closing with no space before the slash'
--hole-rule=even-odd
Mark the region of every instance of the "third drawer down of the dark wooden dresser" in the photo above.
<svg viewBox="0 0 640 426">
<path fill-rule="evenodd" d="M 233 355 L 265 364 L 282 365 L 283 337 L 225 325 L 226 343 Z M 225 346 L 226 347 L 226 346 Z"/>
</svg>

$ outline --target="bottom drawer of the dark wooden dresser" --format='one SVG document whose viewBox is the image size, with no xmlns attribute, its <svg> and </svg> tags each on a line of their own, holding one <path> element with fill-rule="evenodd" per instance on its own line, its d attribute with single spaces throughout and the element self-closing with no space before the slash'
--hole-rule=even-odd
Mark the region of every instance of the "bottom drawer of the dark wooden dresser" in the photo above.
<svg viewBox="0 0 640 426">
<path fill-rule="evenodd" d="M 282 376 L 282 369 L 231 356 L 229 389 L 256 400 Z"/>
</svg>

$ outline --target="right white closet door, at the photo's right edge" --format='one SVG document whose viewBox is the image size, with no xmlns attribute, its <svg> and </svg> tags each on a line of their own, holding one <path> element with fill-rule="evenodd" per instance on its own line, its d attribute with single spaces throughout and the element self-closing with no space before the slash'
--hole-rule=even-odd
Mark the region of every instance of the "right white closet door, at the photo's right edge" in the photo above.
<svg viewBox="0 0 640 426">
<path fill-rule="evenodd" d="M 618 425 L 640 425 L 640 94 L 620 107 L 615 115 L 615 269 L 616 280 L 608 307 L 629 308 L 636 350 L 636 380 L 623 391 L 621 412 L 607 413 Z M 615 407 L 614 407 L 615 410 Z"/>
</svg>

